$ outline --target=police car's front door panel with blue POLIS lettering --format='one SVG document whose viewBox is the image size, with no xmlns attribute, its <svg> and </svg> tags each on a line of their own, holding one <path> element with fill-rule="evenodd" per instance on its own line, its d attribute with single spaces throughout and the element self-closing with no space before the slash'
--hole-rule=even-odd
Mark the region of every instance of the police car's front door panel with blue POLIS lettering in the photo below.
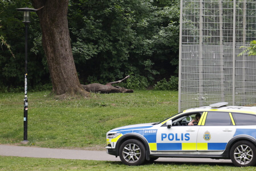
<svg viewBox="0 0 256 171">
<path fill-rule="evenodd" d="M 182 125 L 182 120 L 177 124 L 175 119 L 172 123 L 170 128 L 163 124 L 157 131 L 158 154 L 196 154 L 196 140 L 200 126 L 188 126 L 184 122 Z"/>
</svg>

